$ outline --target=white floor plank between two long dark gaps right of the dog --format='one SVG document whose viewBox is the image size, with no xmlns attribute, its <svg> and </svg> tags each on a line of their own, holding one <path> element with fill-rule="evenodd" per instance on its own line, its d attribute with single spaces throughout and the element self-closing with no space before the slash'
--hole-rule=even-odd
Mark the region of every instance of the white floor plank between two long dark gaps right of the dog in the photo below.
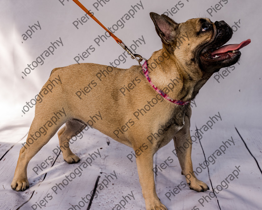
<svg viewBox="0 0 262 210">
<path fill-rule="evenodd" d="M 223 187 L 223 190 L 217 194 L 221 209 L 249 208 L 259 210 L 262 205 L 262 175 L 258 168 L 254 167 L 254 159 L 250 156 L 234 129 L 221 127 L 221 129 L 213 129 L 205 134 L 201 143 L 206 158 L 212 155 L 215 149 L 219 149 L 221 145 L 224 145 L 223 142 L 231 139 L 231 136 L 235 146 L 232 143 L 231 146 L 227 144 L 228 148 L 226 148 L 225 154 L 222 153 L 222 155 L 217 156 L 216 162 L 209 166 L 213 187 L 221 185 L 221 182 L 236 170 L 235 166 L 240 166 L 238 179 L 235 178 L 232 181 L 228 179 L 230 182 L 228 183 L 229 187 L 227 189 Z M 224 148 L 221 147 L 221 149 Z M 235 174 L 237 174 L 236 171 Z M 223 185 L 226 186 L 224 183 Z M 210 203 L 205 202 L 203 205 L 209 207 Z"/>
</svg>

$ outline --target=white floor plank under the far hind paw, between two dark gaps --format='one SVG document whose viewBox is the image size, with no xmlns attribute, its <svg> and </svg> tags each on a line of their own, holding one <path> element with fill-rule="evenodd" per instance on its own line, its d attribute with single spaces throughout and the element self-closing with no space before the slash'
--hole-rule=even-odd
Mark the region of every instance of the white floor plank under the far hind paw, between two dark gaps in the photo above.
<svg viewBox="0 0 262 210">
<path fill-rule="evenodd" d="M 93 131 L 97 132 L 97 131 Z M 93 138 L 94 133 L 92 132 L 86 132 L 85 136 L 82 139 L 78 139 L 74 144 L 72 145 L 72 151 L 76 153 L 80 158 L 81 161 L 79 163 L 75 164 L 68 164 L 63 160 L 62 154 L 58 157 L 56 160 L 55 165 L 52 168 L 49 168 L 47 170 L 44 170 L 42 173 L 46 173 L 46 179 L 44 182 L 41 183 L 41 185 L 36 189 L 32 199 L 23 206 L 21 209 L 28 209 L 31 207 L 35 202 L 40 202 L 43 200 L 43 198 L 49 193 L 50 200 L 48 203 L 46 203 L 46 207 L 49 209 L 52 209 L 54 206 L 59 207 L 61 209 L 68 209 L 71 207 L 70 204 L 76 205 L 78 204 L 78 199 L 81 200 L 81 197 L 83 195 L 86 195 L 87 192 L 90 193 L 90 191 L 93 190 L 96 178 L 98 175 L 100 175 L 101 167 L 99 166 L 99 163 L 102 163 L 103 166 L 103 156 L 102 158 L 97 158 L 94 161 L 94 165 L 87 167 L 85 169 L 82 168 L 83 171 L 81 171 L 81 176 L 79 174 L 79 171 L 74 172 L 75 168 L 80 166 L 83 162 L 85 162 L 85 159 L 88 156 L 89 153 L 93 153 L 94 151 L 97 151 L 99 148 L 103 148 L 103 146 L 106 146 L 106 142 L 99 141 L 99 135 L 96 135 L 96 138 Z M 37 158 L 38 165 L 43 160 L 45 160 L 49 155 L 53 155 L 54 153 L 52 150 L 56 148 L 58 145 L 58 138 L 57 135 L 53 137 L 52 140 L 55 139 L 54 146 L 48 150 L 48 153 L 46 153 L 45 158 Z M 103 145 L 103 146 L 102 146 Z M 103 149 L 101 149 L 103 151 Z M 101 152 L 102 155 L 102 152 Z M 34 167 L 36 163 L 31 164 L 31 168 Z M 30 166 L 28 166 L 28 169 L 30 169 Z M 62 181 L 65 179 L 65 176 L 69 176 L 70 173 L 74 172 L 75 174 L 79 174 L 76 176 L 76 178 L 71 179 L 71 182 L 65 182 L 66 186 L 63 188 L 61 185 L 62 190 L 57 190 L 57 194 L 51 189 L 51 187 L 55 186 L 56 184 L 62 183 Z M 34 173 L 34 172 L 32 172 Z M 33 174 L 36 176 L 36 174 Z M 28 175 L 29 176 L 29 175 Z M 52 197 L 52 198 L 51 198 Z M 85 204 L 88 205 L 88 204 Z M 39 208 L 39 207 L 38 207 Z"/>
</svg>

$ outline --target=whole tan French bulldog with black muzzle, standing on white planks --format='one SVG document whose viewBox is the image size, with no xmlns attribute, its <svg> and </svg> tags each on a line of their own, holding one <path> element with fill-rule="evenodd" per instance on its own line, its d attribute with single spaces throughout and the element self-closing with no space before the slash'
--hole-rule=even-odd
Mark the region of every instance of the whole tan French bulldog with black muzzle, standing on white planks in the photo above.
<svg viewBox="0 0 262 210">
<path fill-rule="evenodd" d="M 152 169 L 153 155 L 172 139 L 175 148 L 189 143 L 189 148 L 177 155 L 182 174 L 192 174 L 187 179 L 190 189 L 197 192 L 209 189 L 196 178 L 192 168 L 190 101 L 213 73 L 240 59 L 239 49 L 250 40 L 223 46 L 233 34 L 224 21 L 195 18 L 177 23 L 154 12 L 150 17 L 163 48 L 153 53 L 142 71 L 139 65 L 119 69 L 94 63 L 52 70 L 49 81 L 58 75 L 61 84 L 42 103 L 36 104 L 27 142 L 20 150 L 12 189 L 24 191 L 29 187 L 29 161 L 64 123 L 58 131 L 60 146 L 69 145 L 77 131 L 89 126 L 134 149 L 147 210 L 167 210 L 157 196 Z M 120 91 L 123 87 L 128 90 L 124 94 Z M 92 115 L 96 117 L 91 119 Z M 46 130 L 45 135 L 41 129 Z M 148 138 L 150 133 L 152 137 Z M 62 154 L 67 163 L 80 161 L 69 146 Z"/>
</svg>

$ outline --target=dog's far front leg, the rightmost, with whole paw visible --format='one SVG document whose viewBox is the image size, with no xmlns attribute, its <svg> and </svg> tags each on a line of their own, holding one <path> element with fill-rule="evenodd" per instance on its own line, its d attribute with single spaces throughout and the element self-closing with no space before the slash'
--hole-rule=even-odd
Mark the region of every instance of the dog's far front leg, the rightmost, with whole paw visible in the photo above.
<svg viewBox="0 0 262 210">
<path fill-rule="evenodd" d="M 195 173 L 193 172 L 191 159 L 192 140 L 189 130 L 190 116 L 191 114 L 189 116 L 185 116 L 185 125 L 181 130 L 179 130 L 176 133 L 174 137 L 174 143 L 177 157 L 182 169 L 182 174 L 185 175 L 187 179 L 187 184 L 189 185 L 190 189 L 193 189 L 197 192 L 203 192 L 209 190 L 209 187 L 206 185 L 206 183 L 198 180 L 195 176 Z"/>
</svg>

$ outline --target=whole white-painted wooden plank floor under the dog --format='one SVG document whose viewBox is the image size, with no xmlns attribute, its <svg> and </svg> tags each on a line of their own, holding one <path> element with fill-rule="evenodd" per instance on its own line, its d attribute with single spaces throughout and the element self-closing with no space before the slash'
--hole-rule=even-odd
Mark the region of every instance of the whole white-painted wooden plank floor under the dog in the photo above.
<svg viewBox="0 0 262 210">
<path fill-rule="evenodd" d="M 197 126 L 200 128 L 201 125 Z M 172 141 L 154 156 L 155 165 L 160 166 L 164 161 L 168 164 L 162 171 L 158 169 L 155 180 L 158 197 L 169 210 L 262 209 L 262 131 L 218 127 L 204 132 L 201 140 L 198 138 L 192 145 L 193 168 L 199 173 L 198 179 L 210 187 L 206 192 L 195 192 L 185 184 L 178 159 L 172 153 Z M 58 146 L 55 135 L 28 165 L 30 188 L 24 192 L 13 191 L 10 184 L 28 130 L 28 126 L 0 129 L 1 210 L 145 209 L 136 163 L 126 157 L 132 149 L 94 129 L 85 131 L 83 138 L 70 146 L 81 158 L 80 163 L 76 164 L 67 164 L 61 153 L 56 156 L 53 152 Z M 191 130 L 191 135 L 194 135 L 196 128 L 192 126 Z M 235 145 L 228 139 L 233 140 Z M 221 147 L 223 142 L 226 147 Z M 220 154 L 221 150 L 225 154 Z M 101 158 L 93 155 L 91 166 L 84 168 L 83 163 L 85 160 L 91 162 L 89 154 L 95 151 L 100 152 Z M 43 171 L 39 168 L 36 171 L 37 166 L 45 161 L 45 166 L 49 165 Z M 42 166 L 45 167 L 44 163 Z M 65 176 L 70 174 L 74 179 L 69 177 L 67 181 Z M 94 188 L 96 193 L 92 193 Z M 130 199 L 126 197 L 128 194 Z"/>
</svg>

